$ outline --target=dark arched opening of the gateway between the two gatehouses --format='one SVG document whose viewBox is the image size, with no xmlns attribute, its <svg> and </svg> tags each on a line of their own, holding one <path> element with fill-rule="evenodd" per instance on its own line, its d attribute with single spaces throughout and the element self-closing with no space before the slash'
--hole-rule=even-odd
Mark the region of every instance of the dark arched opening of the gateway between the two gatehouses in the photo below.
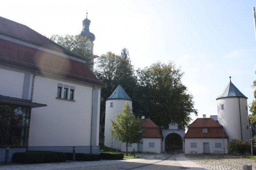
<svg viewBox="0 0 256 170">
<path fill-rule="evenodd" d="M 166 152 L 182 152 L 183 151 L 183 140 L 182 137 L 177 133 L 170 133 L 165 137 L 165 151 Z"/>
</svg>

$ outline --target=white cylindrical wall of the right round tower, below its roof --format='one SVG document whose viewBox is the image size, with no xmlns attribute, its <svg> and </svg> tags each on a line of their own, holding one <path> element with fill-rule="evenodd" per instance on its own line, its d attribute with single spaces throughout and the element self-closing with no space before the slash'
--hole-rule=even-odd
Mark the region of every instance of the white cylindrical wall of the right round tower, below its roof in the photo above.
<svg viewBox="0 0 256 170">
<path fill-rule="evenodd" d="M 241 123 L 239 113 L 239 101 L 238 98 L 221 98 L 217 100 L 218 121 L 223 125 L 223 129 L 228 135 L 228 141 L 232 139 L 242 140 L 241 127 L 243 140 L 250 139 L 250 129 L 247 129 L 249 120 L 247 119 L 248 111 L 246 110 L 247 99 L 240 99 L 240 111 L 241 111 Z M 224 104 L 224 109 L 221 109 L 221 105 Z M 241 126 L 242 124 L 242 126 Z"/>
</svg>

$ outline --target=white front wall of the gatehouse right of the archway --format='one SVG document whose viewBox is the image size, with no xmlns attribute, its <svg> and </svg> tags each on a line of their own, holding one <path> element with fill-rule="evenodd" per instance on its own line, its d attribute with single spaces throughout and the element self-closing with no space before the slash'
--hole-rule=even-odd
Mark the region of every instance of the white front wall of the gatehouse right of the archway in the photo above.
<svg viewBox="0 0 256 170">
<path fill-rule="evenodd" d="M 190 143 L 196 142 L 197 148 L 191 148 Z M 213 151 L 224 151 L 225 153 L 228 153 L 228 150 L 226 149 L 226 146 L 228 144 L 228 139 L 224 138 L 224 148 L 223 148 L 223 138 L 186 138 L 185 139 L 185 154 L 188 154 L 191 151 L 197 151 L 197 153 L 204 153 L 204 142 L 209 142 L 210 146 L 210 153 L 213 153 Z M 221 148 L 215 148 L 215 142 L 221 143 Z"/>
</svg>

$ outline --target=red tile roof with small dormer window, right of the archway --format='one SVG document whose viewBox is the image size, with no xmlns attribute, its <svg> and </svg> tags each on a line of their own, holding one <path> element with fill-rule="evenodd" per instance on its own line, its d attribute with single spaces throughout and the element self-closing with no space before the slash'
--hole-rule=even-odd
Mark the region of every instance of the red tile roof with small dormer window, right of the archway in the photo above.
<svg viewBox="0 0 256 170">
<path fill-rule="evenodd" d="M 207 133 L 203 133 L 204 127 L 208 129 Z M 212 118 L 197 118 L 188 126 L 185 138 L 228 138 L 222 127 Z"/>
</svg>

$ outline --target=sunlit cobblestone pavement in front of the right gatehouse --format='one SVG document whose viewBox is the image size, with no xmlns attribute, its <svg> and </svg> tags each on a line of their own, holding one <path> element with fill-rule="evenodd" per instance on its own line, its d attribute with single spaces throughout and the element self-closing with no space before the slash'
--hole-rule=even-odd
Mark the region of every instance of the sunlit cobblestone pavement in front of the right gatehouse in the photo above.
<svg viewBox="0 0 256 170">
<path fill-rule="evenodd" d="M 239 156 L 198 155 L 190 157 L 190 160 L 208 170 L 241 170 L 241 165 L 252 164 L 252 170 L 256 170 L 256 161 Z"/>
</svg>

